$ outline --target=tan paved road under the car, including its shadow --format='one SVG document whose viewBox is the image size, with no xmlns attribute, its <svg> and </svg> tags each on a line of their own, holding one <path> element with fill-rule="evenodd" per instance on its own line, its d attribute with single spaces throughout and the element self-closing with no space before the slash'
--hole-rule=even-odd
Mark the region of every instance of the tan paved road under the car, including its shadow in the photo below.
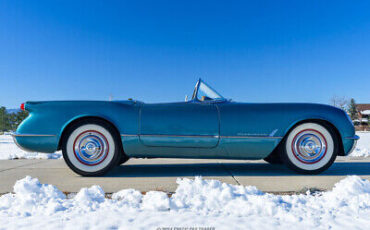
<svg viewBox="0 0 370 230">
<path fill-rule="evenodd" d="M 299 192 L 307 188 L 331 189 L 347 175 L 370 180 L 370 158 L 339 158 L 329 170 L 315 176 L 299 175 L 283 165 L 264 161 L 131 159 L 104 177 L 81 177 L 63 160 L 0 160 L 0 193 L 13 191 L 14 183 L 26 175 L 64 192 L 78 192 L 94 184 L 107 193 L 125 188 L 174 192 L 176 178 L 199 175 L 230 184 L 254 185 L 265 192 Z"/>
</svg>

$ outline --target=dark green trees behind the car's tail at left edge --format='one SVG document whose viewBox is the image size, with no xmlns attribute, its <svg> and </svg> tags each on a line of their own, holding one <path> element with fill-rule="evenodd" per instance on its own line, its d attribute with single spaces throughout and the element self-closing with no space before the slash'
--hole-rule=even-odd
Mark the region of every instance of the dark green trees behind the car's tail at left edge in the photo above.
<svg viewBox="0 0 370 230">
<path fill-rule="evenodd" d="M 4 106 L 0 107 L 0 132 L 15 131 L 27 116 L 27 111 L 9 113 Z"/>
</svg>

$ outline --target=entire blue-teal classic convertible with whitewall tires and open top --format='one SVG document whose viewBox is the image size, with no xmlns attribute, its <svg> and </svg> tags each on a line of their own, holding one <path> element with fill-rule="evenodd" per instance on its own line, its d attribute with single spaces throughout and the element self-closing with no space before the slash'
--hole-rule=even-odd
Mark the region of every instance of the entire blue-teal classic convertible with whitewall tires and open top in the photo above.
<svg viewBox="0 0 370 230">
<path fill-rule="evenodd" d="M 130 157 L 265 159 L 304 174 L 326 170 L 358 136 L 341 109 L 307 103 L 238 103 L 199 79 L 192 99 L 26 102 L 14 133 L 27 151 L 62 150 L 83 176 L 102 175 Z"/>
</svg>

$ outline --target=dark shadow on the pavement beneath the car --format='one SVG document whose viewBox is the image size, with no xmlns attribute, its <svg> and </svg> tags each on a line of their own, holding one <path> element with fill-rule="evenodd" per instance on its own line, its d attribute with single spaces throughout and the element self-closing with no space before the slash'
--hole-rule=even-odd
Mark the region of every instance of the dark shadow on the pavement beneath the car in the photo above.
<svg viewBox="0 0 370 230">
<path fill-rule="evenodd" d="M 369 175 L 370 162 L 335 162 L 317 176 Z M 184 176 L 305 176 L 284 165 L 267 163 L 128 164 L 120 165 L 106 177 Z"/>
</svg>

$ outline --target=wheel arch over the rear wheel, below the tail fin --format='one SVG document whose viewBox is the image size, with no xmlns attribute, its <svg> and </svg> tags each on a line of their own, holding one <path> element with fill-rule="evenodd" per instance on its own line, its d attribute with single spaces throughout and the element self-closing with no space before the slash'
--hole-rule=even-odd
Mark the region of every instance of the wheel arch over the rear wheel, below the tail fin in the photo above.
<svg viewBox="0 0 370 230">
<path fill-rule="evenodd" d="M 71 127 L 72 125 L 78 123 L 78 122 L 81 122 L 81 121 L 84 121 L 84 120 L 89 120 L 89 119 L 97 119 L 97 120 L 100 120 L 100 121 L 103 121 L 105 123 L 110 124 L 113 127 L 113 129 L 115 130 L 115 132 L 116 132 L 115 134 L 118 135 L 118 137 L 119 137 L 118 138 L 119 139 L 119 145 L 120 145 L 120 148 L 121 148 L 122 152 L 124 153 L 121 134 L 120 134 L 117 126 L 111 120 L 109 120 L 105 117 L 96 116 L 96 115 L 79 116 L 79 117 L 76 117 L 76 118 L 68 121 L 61 130 L 61 134 L 60 134 L 60 138 L 59 138 L 59 142 L 58 142 L 58 150 L 61 150 L 61 148 L 62 148 L 62 143 L 63 143 L 64 139 L 66 138 L 66 133 L 67 133 L 68 128 Z"/>
</svg>

